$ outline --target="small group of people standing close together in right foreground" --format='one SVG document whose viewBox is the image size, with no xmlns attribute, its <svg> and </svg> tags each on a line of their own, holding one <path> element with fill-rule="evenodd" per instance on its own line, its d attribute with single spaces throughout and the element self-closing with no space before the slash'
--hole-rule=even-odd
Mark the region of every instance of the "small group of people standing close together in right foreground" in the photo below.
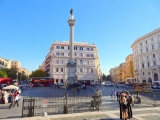
<svg viewBox="0 0 160 120">
<path fill-rule="evenodd" d="M 133 103 L 133 96 L 127 92 L 117 92 L 117 100 L 119 102 L 120 107 L 120 119 L 127 120 L 131 119 L 132 116 L 132 103 Z"/>
</svg>

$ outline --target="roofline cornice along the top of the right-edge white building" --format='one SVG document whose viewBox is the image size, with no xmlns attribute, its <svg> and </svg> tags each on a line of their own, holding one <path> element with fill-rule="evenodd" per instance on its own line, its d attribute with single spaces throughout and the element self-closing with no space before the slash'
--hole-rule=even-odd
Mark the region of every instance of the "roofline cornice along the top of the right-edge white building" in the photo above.
<svg viewBox="0 0 160 120">
<path fill-rule="evenodd" d="M 136 43 L 140 42 L 141 40 L 143 40 L 143 39 L 145 39 L 145 38 L 148 38 L 148 37 L 156 34 L 157 32 L 160 32 L 160 28 L 157 28 L 157 29 L 153 30 L 152 32 L 147 33 L 146 35 L 143 35 L 142 37 L 138 38 L 137 40 L 135 40 L 135 41 L 132 43 L 132 45 L 131 45 L 130 47 L 132 48 Z"/>
</svg>

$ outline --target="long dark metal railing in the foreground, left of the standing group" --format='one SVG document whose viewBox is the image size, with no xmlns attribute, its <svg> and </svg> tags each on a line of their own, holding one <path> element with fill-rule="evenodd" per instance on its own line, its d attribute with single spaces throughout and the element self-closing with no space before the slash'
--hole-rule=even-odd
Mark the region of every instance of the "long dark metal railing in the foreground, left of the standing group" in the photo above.
<svg viewBox="0 0 160 120">
<path fill-rule="evenodd" d="M 44 106 L 43 101 L 47 101 Z M 23 97 L 22 117 L 42 116 L 44 112 L 48 115 L 80 113 L 86 111 L 99 111 L 101 104 L 100 96 L 87 97 L 64 97 L 39 98 Z"/>
</svg>

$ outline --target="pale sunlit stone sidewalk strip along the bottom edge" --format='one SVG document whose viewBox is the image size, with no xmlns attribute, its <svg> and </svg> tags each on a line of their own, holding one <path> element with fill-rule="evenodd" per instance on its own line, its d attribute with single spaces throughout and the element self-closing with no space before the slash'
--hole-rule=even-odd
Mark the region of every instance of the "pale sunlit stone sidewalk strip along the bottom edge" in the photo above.
<svg viewBox="0 0 160 120">
<path fill-rule="evenodd" d="M 160 120 L 160 107 L 133 109 L 130 120 Z M 11 120 L 11 119 L 5 119 Z M 16 118 L 12 120 L 119 120 L 119 110 Z"/>
</svg>

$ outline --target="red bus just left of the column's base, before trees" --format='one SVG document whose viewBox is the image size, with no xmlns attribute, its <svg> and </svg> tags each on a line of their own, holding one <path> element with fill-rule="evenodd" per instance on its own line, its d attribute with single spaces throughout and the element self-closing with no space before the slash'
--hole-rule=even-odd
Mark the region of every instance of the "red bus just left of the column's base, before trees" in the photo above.
<svg viewBox="0 0 160 120">
<path fill-rule="evenodd" d="M 33 87 L 46 87 L 54 85 L 54 78 L 51 77 L 33 77 L 30 80 Z"/>
</svg>

